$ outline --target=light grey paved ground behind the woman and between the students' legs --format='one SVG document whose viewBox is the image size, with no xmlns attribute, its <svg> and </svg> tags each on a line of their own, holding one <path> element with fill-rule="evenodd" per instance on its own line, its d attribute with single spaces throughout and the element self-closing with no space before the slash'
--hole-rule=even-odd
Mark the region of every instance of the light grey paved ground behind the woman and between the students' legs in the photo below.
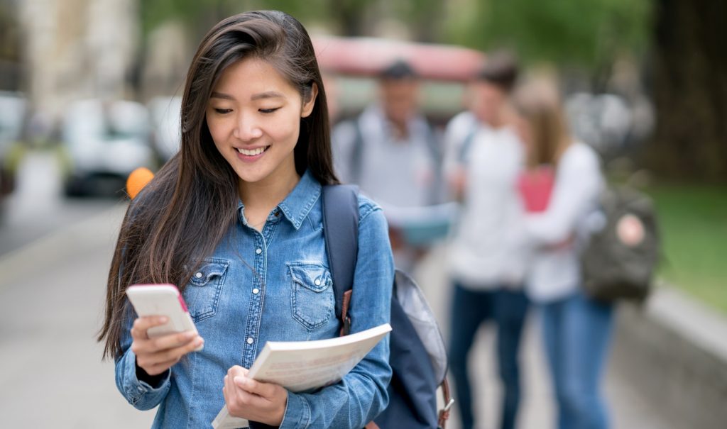
<svg viewBox="0 0 727 429">
<path fill-rule="evenodd" d="M 44 155 L 30 158 L 52 168 Z M 0 426 L 4 428 L 148 428 L 154 412 L 139 412 L 116 391 L 113 364 L 101 361 L 95 334 L 103 316 L 105 278 L 126 203 L 65 202 L 53 176 L 23 176 L 15 205 L 0 229 Z M 34 176 L 33 176 L 34 177 Z M 37 178 L 36 178 L 37 179 Z M 55 190 L 54 190 L 55 189 Z M 37 228 L 36 228 L 37 227 Z M 12 240 L 8 240 L 11 237 Z M 446 248 L 435 248 L 415 273 L 449 330 Z M 536 318 L 523 347 L 520 428 L 553 428 L 553 406 Z M 483 330 L 472 356 L 480 429 L 497 427 L 499 388 L 491 330 Z M 677 429 L 662 421 L 655 404 L 638 396 L 615 365 L 606 393 L 614 428 Z M 456 414 L 448 428 L 458 429 Z"/>
</svg>

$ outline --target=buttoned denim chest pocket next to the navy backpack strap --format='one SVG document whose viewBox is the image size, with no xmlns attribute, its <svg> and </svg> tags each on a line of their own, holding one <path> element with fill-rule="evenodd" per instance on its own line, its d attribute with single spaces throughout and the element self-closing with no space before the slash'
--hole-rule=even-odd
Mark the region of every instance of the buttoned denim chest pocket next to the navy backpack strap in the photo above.
<svg viewBox="0 0 727 429">
<path fill-rule="evenodd" d="M 292 310 L 308 330 L 326 324 L 334 313 L 331 272 L 318 263 L 288 263 L 292 279 Z"/>
</svg>

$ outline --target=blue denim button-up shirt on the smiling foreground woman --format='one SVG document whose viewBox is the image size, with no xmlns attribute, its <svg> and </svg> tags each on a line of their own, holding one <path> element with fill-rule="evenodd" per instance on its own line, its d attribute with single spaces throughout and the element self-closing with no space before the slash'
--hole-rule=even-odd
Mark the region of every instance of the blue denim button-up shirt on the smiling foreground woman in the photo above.
<svg viewBox="0 0 727 429">
<path fill-rule="evenodd" d="M 270 213 L 262 232 L 247 225 L 240 203 L 238 222 L 183 292 L 204 349 L 184 356 L 158 385 L 137 379 L 129 317 L 121 338 L 124 354 L 116 360 L 116 385 L 137 409 L 159 406 L 153 428 L 209 428 L 225 405 L 228 369 L 249 368 L 266 341 L 338 336 L 321 191 L 306 172 Z M 358 206 L 351 332 L 389 322 L 393 284 L 382 211 L 365 197 L 359 197 Z M 289 392 L 280 427 L 363 428 L 388 403 L 388 358 L 385 338 L 340 383 L 313 393 Z"/>
</svg>

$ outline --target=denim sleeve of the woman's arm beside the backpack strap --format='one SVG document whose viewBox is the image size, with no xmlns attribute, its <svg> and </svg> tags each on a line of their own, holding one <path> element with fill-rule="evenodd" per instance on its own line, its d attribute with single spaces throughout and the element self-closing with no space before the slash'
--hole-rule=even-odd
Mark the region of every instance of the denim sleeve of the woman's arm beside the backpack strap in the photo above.
<svg viewBox="0 0 727 429">
<path fill-rule="evenodd" d="M 390 322 L 394 280 L 383 213 L 367 200 L 359 203 L 358 260 L 349 309 L 351 332 Z M 387 335 L 339 383 L 316 393 L 288 393 L 280 428 L 363 428 L 386 408 L 390 379 Z"/>
</svg>

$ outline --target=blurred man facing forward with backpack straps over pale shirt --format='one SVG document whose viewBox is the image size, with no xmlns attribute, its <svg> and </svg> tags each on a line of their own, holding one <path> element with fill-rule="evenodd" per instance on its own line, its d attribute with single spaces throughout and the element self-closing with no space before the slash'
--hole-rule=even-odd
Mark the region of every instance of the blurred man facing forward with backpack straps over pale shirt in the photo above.
<svg viewBox="0 0 727 429">
<path fill-rule="evenodd" d="M 382 205 L 385 213 L 439 203 L 438 136 L 419 112 L 419 76 L 397 60 L 379 76 L 379 99 L 332 134 L 336 173 Z M 411 271 L 425 248 L 407 245 L 390 221 L 397 266 Z"/>
</svg>

